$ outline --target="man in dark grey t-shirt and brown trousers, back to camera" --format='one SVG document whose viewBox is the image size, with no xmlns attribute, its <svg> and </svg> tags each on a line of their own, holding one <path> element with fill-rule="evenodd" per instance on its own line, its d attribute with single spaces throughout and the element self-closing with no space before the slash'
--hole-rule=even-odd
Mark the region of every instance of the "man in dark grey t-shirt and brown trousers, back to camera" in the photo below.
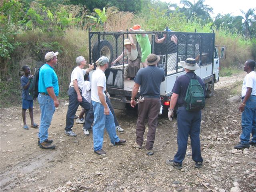
<svg viewBox="0 0 256 192">
<path fill-rule="evenodd" d="M 160 60 L 159 56 L 150 54 L 147 57 L 148 67 L 138 71 L 134 78 L 134 87 L 132 89 L 131 106 L 136 105 L 135 97 L 140 88 L 140 96 L 144 101 L 138 104 L 138 120 L 136 125 L 136 143 L 134 148 L 140 149 L 143 144 L 143 135 L 145 132 L 144 121 L 148 117 L 148 135 L 147 135 L 147 155 L 153 155 L 153 145 L 156 136 L 157 118 L 161 107 L 160 85 L 165 80 L 164 70 L 158 68 L 156 64 Z"/>
</svg>

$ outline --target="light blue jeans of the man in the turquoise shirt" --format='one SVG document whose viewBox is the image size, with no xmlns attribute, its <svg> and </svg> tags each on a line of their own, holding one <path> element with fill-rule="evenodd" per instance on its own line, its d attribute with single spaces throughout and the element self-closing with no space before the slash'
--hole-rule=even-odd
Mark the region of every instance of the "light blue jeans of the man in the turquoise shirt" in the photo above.
<svg viewBox="0 0 256 192">
<path fill-rule="evenodd" d="M 48 128 L 52 122 L 52 116 L 55 111 L 54 101 L 49 95 L 38 95 L 38 103 L 41 110 L 41 121 L 38 132 L 40 143 L 48 139 Z"/>
</svg>

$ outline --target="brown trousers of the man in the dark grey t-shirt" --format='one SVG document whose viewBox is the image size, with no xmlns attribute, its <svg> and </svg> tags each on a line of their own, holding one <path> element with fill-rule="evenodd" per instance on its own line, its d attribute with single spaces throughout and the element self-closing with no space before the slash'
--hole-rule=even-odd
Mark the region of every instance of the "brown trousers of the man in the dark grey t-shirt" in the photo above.
<svg viewBox="0 0 256 192">
<path fill-rule="evenodd" d="M 138 104 L 138 120 L 136 126 L 136 142 L 138 145 L 143 144 L 143 135 L 145 132 L 144 121 L 148 118 L 148 135 L 146 149 L 152 150 L 157 128 L 157 118 L 161 107 L 159 98 L 145 98 L 144 102 Z"/>
</svg>

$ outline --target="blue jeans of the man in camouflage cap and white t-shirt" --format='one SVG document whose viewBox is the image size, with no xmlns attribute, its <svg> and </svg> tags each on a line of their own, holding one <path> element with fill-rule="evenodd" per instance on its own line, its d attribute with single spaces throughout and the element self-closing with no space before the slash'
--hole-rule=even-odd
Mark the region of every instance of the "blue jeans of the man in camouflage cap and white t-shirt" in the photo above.
<svg viewBox="0 0 256 192">
<path fill-rule="evenodd" d="M 104 128 L 106 128 L 112 144 L 119 142 L 120 139 L 116 135 L 116 126 L 112 112 L 110 111 L 109 115 L 104 115 L 104 106 L 101 103 L 92 101 L 92 105 L 94 109 L 94 125 L 92 128 L 93 148 L 94 151 L 98 151 L 102 149 Z"/>
</svg>

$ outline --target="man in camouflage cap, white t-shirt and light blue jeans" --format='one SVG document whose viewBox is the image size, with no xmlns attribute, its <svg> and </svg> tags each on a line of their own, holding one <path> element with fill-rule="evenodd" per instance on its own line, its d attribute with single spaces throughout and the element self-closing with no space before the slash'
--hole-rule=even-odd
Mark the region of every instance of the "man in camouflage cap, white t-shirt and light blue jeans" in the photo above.
<svg viewBox="0 0 256 192">
<path fill-rule="evenodd" d="M 102 150 L 104 129 L 106 128 L 113 145 L 122 145 L 126 142 L 116 135 L 116 126 L 114 117 L 106 103 L 106 76 L 105 70 L 108 68 L 108 58 L 102 56 L 98 59 L 99 68 L 92 74 L 91 80 L 91 96 L 94 109 L 94 125 L 93 125 L 93 148 L 98 155 L 106 154 Z"/>
</svg>

